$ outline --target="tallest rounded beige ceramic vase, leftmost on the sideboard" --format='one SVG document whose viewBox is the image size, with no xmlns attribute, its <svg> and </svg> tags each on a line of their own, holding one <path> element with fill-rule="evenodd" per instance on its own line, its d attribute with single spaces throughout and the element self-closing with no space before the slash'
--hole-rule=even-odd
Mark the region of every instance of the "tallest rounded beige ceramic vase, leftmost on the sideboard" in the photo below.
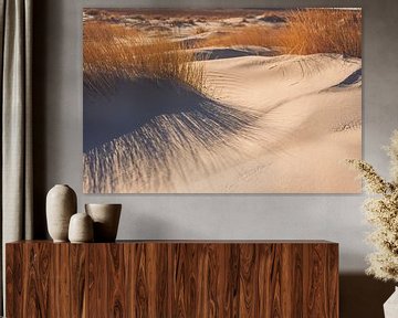
<svg viewBox="0 0 398 318">
<path fill-rule="evenodd" d="M 54 242 L 67 242 L 70 219 L 76 213 L 76 193 L 66 184 L 54 186 L 46 195 L 48 230 Z"/>
</svg>

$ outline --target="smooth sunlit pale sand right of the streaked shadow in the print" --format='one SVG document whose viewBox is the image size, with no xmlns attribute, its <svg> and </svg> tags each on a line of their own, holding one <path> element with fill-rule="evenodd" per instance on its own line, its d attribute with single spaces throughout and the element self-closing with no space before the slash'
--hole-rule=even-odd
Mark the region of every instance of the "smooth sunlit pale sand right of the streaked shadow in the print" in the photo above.
<svg viewBox="0 0 398 318">
<path fill-rule="evenodd" d="M 226 192 L 360 190 L 342 162 L 362 152 L 362 82 L 349 77 L 360 74 L 360 60 L 316 54 L 206 63 L 220 100 L 261 117 L 256 145 L 242 148 L 251 159 L 198 182 L 199 191 L 209 184 Z"/>
</svg>

